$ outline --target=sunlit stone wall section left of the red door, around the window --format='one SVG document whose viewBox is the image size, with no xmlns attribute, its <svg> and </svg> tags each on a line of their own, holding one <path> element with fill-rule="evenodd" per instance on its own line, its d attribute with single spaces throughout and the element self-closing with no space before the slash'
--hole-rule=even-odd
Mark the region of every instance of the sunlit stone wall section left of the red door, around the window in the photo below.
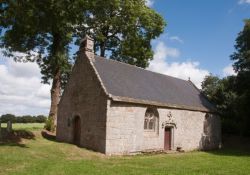
<svg viewBox="0 0 250 175">
<path fill-rule="evenodd" d="M 148 106 L 113 101 L 108 106 L 106 154 L 163 149 L 161 128 L 157 133 L 144 132 L 144 116 Z M 159 120 L 161 123 L 161 118 Z"/>
</svg>

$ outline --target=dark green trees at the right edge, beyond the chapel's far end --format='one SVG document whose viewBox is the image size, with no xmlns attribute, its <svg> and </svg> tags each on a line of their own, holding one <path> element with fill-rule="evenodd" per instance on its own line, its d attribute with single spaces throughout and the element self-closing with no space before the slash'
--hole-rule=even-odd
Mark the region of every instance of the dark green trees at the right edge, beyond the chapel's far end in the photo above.
<svg viewBox="0 0 250 175">
<path fill-rule="evenodd" d="M 250 136 L 250 19 L 236 38 L 231 59 L 237 75 L 222 79 L 210 75 L 202 82 L 202 91 L 216 104 L 224 132 Z"/>
</svg>

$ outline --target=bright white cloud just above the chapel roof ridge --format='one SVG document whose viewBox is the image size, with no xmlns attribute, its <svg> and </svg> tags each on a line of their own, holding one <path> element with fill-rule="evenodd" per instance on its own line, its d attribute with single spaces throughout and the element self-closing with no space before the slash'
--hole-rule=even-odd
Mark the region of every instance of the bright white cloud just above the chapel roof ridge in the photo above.
<svg viewBox="0 0 250 175">
<path fill-rule="evenodd" d="M 199 62 L 196 61 L 167 62 L 169 56 L 178 57 L 179 55 L 180 52 L 177 49 L 169 49 L 160 41 L 156 45 L 154 59 L 150 62 L 148 69 L 184 80 L 188 80 L 190 77 L 191 81 L 201 88 L 201 82 L 206 75 L 209 75 L 209 72 L 199 68 Z"/>
</svg>

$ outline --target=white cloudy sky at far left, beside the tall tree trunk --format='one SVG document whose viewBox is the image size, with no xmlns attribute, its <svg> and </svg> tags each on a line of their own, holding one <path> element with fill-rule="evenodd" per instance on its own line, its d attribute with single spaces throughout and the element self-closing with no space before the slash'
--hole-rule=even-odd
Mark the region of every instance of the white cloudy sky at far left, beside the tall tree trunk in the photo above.
<svg viewBox="0 0 250 175">
<path fill-rule="evenodd" d="M 48 114 L 50 86 L 41 84 L 36 63 L 16 63 L 11 58 L 0 64 L 0 115 Z"/>
</svg>

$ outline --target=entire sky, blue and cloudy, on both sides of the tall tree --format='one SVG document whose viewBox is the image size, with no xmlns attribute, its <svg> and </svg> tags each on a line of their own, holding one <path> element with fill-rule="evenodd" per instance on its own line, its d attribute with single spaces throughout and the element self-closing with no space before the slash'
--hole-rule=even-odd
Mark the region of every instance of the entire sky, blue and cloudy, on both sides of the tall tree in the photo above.
<svg viewBox="0 0 250 175">
<path fill-rule="evenodd" d="M 190 77 L 198 87 L 209 73 L 234 74 L 229 56 L 243 20 L 250 18 L 250 0 L 148 0 L 148 6 L 165 18 L 167 27 L 152 41 L 154 60 L 147 69 Z M 0 54 L 0 115 L 47 115 L 50 85 L 40 82 L 36 64 L 15 63 Z"/>
</svg>

